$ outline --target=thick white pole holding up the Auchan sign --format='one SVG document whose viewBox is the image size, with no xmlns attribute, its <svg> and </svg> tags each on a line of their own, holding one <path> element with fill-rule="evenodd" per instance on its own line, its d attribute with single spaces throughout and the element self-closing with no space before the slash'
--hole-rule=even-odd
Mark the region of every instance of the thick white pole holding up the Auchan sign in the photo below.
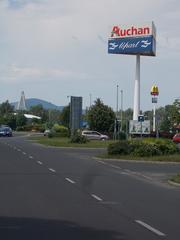
<svg viewBox="0 0 180 240">
<path fill-rule="evenodd" d="M 140 112 L 140 55 L 136 55 L 136 75 L 134 85 L 134 109 L 133 120 L 138 120 Z"/>
</svg>

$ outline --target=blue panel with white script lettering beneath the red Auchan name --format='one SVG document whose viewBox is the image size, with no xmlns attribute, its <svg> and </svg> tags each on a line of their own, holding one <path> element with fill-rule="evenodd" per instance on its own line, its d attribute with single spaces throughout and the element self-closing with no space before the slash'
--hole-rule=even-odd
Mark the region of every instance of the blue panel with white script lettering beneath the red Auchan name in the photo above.
<svg viewBox="0 0 180 240">
<path fill-rule="evenodd" d="M 152 35 L 144 37 L 109 39 L 108 53 L 155 56 L 155 39 Z"/>
</svg>

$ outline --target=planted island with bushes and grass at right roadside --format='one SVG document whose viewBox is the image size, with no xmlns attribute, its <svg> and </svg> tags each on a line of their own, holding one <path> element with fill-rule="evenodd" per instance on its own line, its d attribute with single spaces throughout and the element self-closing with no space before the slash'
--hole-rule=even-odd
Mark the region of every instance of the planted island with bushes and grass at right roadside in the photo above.
<svg viewBox="0 0 180 240">
<path fill-rule="evenodd" d="M 109 144 L 104 158 L 180 162 L 180 149 L 168 139 L 131 139 Z"/>
</svg>

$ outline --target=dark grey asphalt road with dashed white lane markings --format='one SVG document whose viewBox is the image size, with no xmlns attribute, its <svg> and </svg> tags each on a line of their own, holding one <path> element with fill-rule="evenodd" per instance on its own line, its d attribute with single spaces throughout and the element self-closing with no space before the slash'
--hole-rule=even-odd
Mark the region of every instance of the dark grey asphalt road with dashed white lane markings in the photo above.
<svg viewBox="0 0 180 240">
<path fill-rule="evenodd" d="M 0 138 L 0 239 L 180 239 L 179 164 L 100 161 L 102 150 Z"/>
</svg>

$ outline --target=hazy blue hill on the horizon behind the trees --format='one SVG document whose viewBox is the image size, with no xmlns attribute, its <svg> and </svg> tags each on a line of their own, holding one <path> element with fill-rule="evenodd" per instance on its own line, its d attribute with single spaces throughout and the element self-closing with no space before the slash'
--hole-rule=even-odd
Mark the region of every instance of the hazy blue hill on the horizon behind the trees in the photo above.
<svg viewBox="0 0 180 240">
<path fill-rule="evenodd" d="M 50 103 L 50 102 L 47 102 L 45 100 L 38 99 L 38 98 L 26 99 L 26 106 L 27 106 L 28 109 L 32 106 L 36 106 L 36 105 L 39 105 L 39 104 L 41 104 L 44 109 L 56 109 L 56 110 L 62 111 L 63 108 L 64 108 L 64 106 L 56 106 L 53 103 Z M 11 103 L 11 105 L 14 106 L 15 109 L 16 109 L 16 107 L 18 105 L 18 102 L 13 102 L 13 103 Z"/>
</svg>

